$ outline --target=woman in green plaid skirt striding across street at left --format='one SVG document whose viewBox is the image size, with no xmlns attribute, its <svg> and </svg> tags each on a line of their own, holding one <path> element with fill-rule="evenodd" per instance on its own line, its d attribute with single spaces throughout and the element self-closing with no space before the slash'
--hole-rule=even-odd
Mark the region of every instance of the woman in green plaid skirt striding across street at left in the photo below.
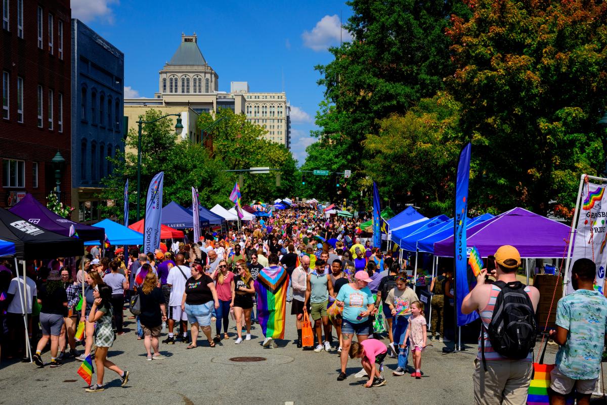
<svg viewBox="0 0 607 405">
<path fill-rule="evenodd" d="M 93 289 L 93 301 L 90 307 L 87 323 L 95 324 L 95 366 L 97 366 L 97 384 L 86 389 L 86 392 L 103 391 L 104 367 L 114 371 L 120 376 L 120 385 L 129 381 L 129 372 L 120 369 L 116 364 L 107 360 L 107 350 L 114 344 L 114 330 L 112 330 L 112 289 L 106 284 L 97 284 Z"/>
</svg>

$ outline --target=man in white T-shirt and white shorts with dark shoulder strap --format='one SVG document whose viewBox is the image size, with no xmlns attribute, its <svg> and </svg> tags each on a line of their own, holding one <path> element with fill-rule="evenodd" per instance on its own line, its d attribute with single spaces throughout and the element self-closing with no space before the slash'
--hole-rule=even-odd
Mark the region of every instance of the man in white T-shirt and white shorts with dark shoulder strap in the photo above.
<svg viewBox="0 0 607 405">
<path fill-rule="evenodd" d="M 169 296 L 169 336 L 162 343 L 175 344 L 173 336 L 173 327 L 175 321 L 181 322 L 181 333 L 177 335 L 177 341 L 185 342 L 188 340 L 188 315 L 184 310 L 181 310 L 181 300 L 183 293 L 186 290 L 186 281 L 191 275 L 188 266 L 184 266 L 184 256 L 179 253 L 175 255 L 175 266 L 169 270 L 169 275 L 166 278 L 166 284 L 171 287 L 171 296 Z"/>
</svg>

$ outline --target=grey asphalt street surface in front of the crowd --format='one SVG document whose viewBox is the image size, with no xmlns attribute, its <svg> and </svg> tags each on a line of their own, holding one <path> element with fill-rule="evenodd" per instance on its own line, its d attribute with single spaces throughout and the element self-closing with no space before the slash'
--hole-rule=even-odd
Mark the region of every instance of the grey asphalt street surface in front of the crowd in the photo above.
<svg viewBox="0 0 607 405">
<path fill-rule="evenodd" d="M 290 313 L 290 305 L 287 313 Z M 129 321 L 131 322 L 131 321 Z M 230 335 L 236 335 L 231 321 Z M 276 349 L 261 346 L 258 325 L 253 339 L 234 344 L 234 338 L 223 340 L 215 348 L 199 337 L 196 349 L 186 344 L 161 344 L 164 360 L 146 361 L 143 341 L 136 340 L 135 325 L 118 336 L 109 350 L 109 359 L 129 370 L 131 378 L 121 387 L 117 374 L 106 369 L 106 390 L 84 391 L 86 383 L 76 374 L 80 362 L 68 360 L 62 367 L 39 368 L 33 363 L 0 364 L 0 404 L 65 405 L 81 401 L 95 404 L 185 404 L 185 405 L 304 405 L 304 404 L 471 404 L 472 371 L 476 346 L 468 350 L 443 353 L 443 343 L 433 342 L 422 356 L 421 380 L 405 374 L 394 377 L 396 359 L 386 358 L 383 375 L 387 384 L 367 389 L 364 378 L 354 378 L 359 361 L 348 361 L 349 377 L 336 381 L 339 358 L 336 351 L 314 353 L 297 349 L 294 316 L 287 316 L 286 339 Z M 213 332 L 215 326 L 212 326 Z M 200 333 L 200 336 L 204 336 Z M 388 343 L 384 338 L 384 343 Z M 450 344 L 450 343 L 449 343 Z M 549 346 L 546 363 L 554 363 L 556 346 Z M 79 350 L 82 347 L 78 347 Z M 237 363 L 237 356 L 260 356 L 264 361 Z M 50 360 L 48 352 L 42 353 Z M 409 359 L 412 364 L 412 359 Z M 95 374 L 93 374 L 95 381 Z"/>
</svg>

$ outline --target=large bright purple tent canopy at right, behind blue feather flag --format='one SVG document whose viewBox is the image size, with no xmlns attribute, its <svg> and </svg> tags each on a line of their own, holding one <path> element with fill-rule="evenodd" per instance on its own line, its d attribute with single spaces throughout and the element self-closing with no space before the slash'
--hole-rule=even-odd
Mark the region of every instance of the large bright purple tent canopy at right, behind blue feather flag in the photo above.
<svg viewBox="0 0 607 405">
<path fill-rule="evenodd" d="M 476 246 L 482 257 L 512 245 L 521 258 L 562 258 L 569 241 L 569 226 L 518 207 L 466 232 L 468 247 Z M 436 256 L 453 257 L 453 253 L 453 235 L 434 244 Z"/>
</svg>

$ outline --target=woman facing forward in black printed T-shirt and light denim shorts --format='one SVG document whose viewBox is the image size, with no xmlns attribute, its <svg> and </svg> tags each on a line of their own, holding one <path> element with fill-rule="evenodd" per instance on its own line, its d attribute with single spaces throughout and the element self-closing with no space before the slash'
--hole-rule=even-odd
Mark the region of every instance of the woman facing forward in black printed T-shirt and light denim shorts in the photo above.
<svg viewBox="0 0 607 405">
<path fill-rule="evenodd" d="M 192 324 L 192 343 L 186 349 L 197 346 L 198 326 L 202 326 L 209 346 L 215 347 L 215 342 L 211 339 L 211 315 L 214 313 L 213 308 L 219 308 L 215 284 L 200 264 L 194 264 L 190 270 L 192 276 L 186 281 L 181 299 L 181 310 L 185 310 L 188 321 Z"/>
</svg>

